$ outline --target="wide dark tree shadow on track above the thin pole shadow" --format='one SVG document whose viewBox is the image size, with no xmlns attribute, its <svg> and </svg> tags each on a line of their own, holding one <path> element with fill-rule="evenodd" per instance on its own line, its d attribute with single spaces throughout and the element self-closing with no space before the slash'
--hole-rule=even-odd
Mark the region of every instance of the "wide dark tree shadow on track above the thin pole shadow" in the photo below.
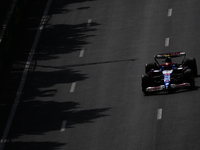
<svg viewBox="0 0 200 150">
<path fill-rule="evenodd" d="M 95 22 L 91 24 L 93 27 L 98 25 L 100 24 Z M 38 59 L 57 59 L 61 54 L 79 51 L 84 45 L 90 44 L 87 38 L 95 36 L 91 33 L 96 30 L 96 28 L 88 29 L 86 23 L 77 25 L 47 25 L 38 47 Z"/>
</svg>

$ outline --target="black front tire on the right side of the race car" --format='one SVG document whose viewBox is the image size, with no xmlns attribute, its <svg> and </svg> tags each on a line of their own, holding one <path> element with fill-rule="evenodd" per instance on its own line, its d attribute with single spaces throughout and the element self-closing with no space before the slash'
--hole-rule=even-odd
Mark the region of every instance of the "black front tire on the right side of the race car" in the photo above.
<svg viewBox="0 0 200 150">
<path fill-rule="evenodd" d="M 190 83 L 192 87 L 195 86 L 194 73 L 192 69 L 187 69 L 183 73 L 184 82 Z"/>
</svg>

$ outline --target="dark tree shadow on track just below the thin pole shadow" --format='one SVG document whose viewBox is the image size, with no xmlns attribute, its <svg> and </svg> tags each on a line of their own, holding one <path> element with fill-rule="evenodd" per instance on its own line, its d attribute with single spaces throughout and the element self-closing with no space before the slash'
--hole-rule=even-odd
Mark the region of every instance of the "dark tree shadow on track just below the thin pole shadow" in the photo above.
<svg viewBox="0 0 200 150">
<path fill-rule="evenodd" d="M 56 84 L 66 84 L 73 83 L 77 81 L 82 81 L 87 79 L 86 74 L 82 74 L 79 71 L 73 69 L 64 69 L 51 72 L 41 72 L 36 71 L 30 74 L 30 80 L 27 84 L 29 85 L 24 90 L 23 99 L 34 99 L 35 97 L 49 97 L 57 94 L 57 89 L 54 89 L 53 86 Z M 48 88 L 42 90 L 43 88 Z M 69 89 L 66 92 L 69 92 Z"/>
</svg>

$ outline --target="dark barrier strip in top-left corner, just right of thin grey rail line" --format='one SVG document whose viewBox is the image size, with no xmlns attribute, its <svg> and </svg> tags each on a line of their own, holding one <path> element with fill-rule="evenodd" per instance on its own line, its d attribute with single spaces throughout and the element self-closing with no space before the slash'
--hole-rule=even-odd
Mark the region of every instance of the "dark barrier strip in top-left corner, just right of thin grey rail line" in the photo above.
<svg viewBox="0 0 200 150">
<path fill-rule="evenodd" d="M 2 35 L 0 41 L 0 76 L 2 76 L 2 73 L 6 68 L 6 64 L 11 61 L 8 57 L 11 53 L 11 47 L 17 38 L 17 34 L 19 34 L 22 29 L 20 24 L 22 23 L 23 15 L 26 13 L 25 8 L 27 1 L 28 0 L 16 1 L 11 17 Z"/>
</svg>

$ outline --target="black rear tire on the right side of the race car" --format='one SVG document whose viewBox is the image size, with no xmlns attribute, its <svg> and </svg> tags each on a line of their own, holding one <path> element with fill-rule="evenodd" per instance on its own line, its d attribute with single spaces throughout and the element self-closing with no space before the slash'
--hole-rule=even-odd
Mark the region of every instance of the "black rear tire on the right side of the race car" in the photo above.
<svg viewBox="0 0 200 150">
<path fill-rule="evenodd" d="M 194 76 L 197 76 L 197 63 L 195 58 L 187 58 L 183 62 L 184 66 L 187 66 L 188 68 L 192 69 Z"/>
</svg>

